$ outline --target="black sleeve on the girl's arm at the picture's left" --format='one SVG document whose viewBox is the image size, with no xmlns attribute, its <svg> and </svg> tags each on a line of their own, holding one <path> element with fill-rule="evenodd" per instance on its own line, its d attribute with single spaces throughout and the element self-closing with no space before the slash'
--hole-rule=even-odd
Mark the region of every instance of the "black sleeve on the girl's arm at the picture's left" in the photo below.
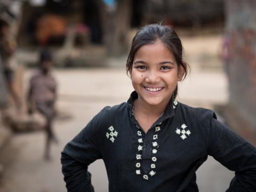
<svg viewBox="0 0 256 192">
<path fill-rule="evenodd" d="M 101 158 L 95 136 L 94 119 L 63 149 L 61 153 L 62 173 L 68 191 L 94 191 L 89 164 Z"/>
</svg>

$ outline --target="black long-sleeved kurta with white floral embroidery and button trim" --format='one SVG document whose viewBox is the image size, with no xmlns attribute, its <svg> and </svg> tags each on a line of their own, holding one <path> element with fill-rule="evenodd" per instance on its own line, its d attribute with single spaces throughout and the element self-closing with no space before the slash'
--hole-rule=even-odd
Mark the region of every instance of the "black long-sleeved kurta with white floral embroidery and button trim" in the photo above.
<svg viewBox="0 0 256 192">
<path fill-rule="evenodd" d="M 105 107 L 62 151 L 68 191 L 93 191 L 87 166 L 102 158 L 109 191 L 198 191 L 196 170 L 213 156 L 235 177 L 227 191 L 256 191 L 256 148 L 219 122 L 211 110 L 171 100 L 143 132 L 133 116 L 136 92 Z M 97 175 L 94 175 L 97 177 Z"/>
</svg>

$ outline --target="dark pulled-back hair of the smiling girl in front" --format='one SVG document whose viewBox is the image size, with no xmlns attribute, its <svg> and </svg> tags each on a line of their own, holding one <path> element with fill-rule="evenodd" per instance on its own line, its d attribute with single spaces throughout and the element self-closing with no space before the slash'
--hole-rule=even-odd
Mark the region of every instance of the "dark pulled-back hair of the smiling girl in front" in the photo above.
<svg viewBox="0 0 256 192">
<path fill-rule="evenodd" d="M 162 26 L 160 24 L 152 24 L 142 27 L 132 39 L 131 50 L 126 62 L 126 73 L 128 73 L 133 65 L 133 60 L 136 52 L 143 45 L 153 44 L 160 40 L 173 53 L 178 67 L 181 65 L 185 69 L 185 78 L 190 70 L 189 65 L 183 59 L 182 44 L 179 36 L 171 26 Z M 173 94 L 177 97 L 178 85 Z"/>
</svg>

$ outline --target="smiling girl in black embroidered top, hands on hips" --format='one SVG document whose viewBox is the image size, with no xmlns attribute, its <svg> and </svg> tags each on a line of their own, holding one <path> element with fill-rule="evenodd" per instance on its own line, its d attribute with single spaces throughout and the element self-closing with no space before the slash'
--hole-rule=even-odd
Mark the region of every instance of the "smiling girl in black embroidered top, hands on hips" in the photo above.
<svg viewBox="0 0 256 192">
<path fill-rule="evenodd" d="M 109 191 L 198 191 L 196 170 L 213 156 L 236 172 L 227 191 L 256 191 L 256 149 L 214 112 L 175 100 L 189 66 L 172 27 L 148 25 L 126 63 L 134 92 L 105 107 L 62 151 L 68 191 L 94 191 L 89 164 L 105 162 Z"/>
</svg>

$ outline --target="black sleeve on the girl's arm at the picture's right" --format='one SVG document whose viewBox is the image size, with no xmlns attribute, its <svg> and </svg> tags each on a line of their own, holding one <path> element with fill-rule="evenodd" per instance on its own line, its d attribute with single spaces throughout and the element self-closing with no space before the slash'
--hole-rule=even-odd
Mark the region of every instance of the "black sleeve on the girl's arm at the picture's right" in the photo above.
<svg viewBox="0 0 256 192">
<path fill-rule="evenodd" d="M 227 191 L 256 191 L 256 148 L 214 118 L 209 136 L 209 155 L 235 171 Z"/>
</svg>

